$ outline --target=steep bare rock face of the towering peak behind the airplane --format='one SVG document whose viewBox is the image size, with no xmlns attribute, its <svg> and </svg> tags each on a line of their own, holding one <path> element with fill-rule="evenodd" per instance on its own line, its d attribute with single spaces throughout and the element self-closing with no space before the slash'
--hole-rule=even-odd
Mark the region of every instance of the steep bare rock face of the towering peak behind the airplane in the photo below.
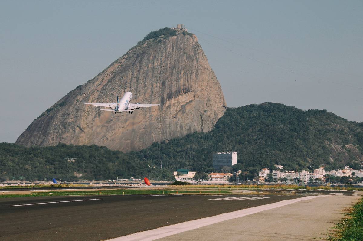
<svg viewBox="0 0 363 241">
<path fill-rule="evenodd" d="M 153 142 L 212 130 L 226 109 L 220 84 L 197 37 L 175 31 L 174 36 L 140 41 L 42 113 L 16 143 L 97 144 L 132 151 Z M 134 95 L 131 103 L 161 105 L 133 114 L 115 114 L 84 104 L 116 102 L 116 95 L 122 97 L 126 91 Z"/>
</svg>

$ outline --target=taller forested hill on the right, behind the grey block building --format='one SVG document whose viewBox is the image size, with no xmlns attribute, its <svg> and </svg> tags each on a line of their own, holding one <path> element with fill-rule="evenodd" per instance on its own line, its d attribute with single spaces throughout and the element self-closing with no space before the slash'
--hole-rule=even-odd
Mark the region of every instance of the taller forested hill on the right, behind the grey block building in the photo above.
<svg viewBox="0 0 363 241">
<path fill-rule="evenodd" d="M 140 159 L 170 169 L 213 171 L 212 154 L 237 151 L 235 169 L 257 173 L 274 164 L 313 170 L 363 162 L 363 123 L 347 121 L 326 110 L 299 110 L 279 103 L 228 108 L 208 133 L 193 133 L 154 143 Z"/>
</svg>

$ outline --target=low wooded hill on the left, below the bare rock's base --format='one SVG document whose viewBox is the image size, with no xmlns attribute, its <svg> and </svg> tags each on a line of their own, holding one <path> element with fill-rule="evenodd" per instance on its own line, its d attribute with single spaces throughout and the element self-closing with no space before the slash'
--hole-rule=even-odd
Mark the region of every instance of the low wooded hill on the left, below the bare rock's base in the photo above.
<svg viewBox="0 0 363 241">
<path fill-rule="evenodd" d="M 76 158 L 76 161 L 68 162 L 66 158 Z M 168 169 L 161 170 L 150 161 L 106 147 L 58 144 L 27 148 L 0 143 L 0 182 L 19 180 L 19 177 L 28 181 L 113 180 L 116 175 L 120 179 L 174 180 Z"/>
</svg>

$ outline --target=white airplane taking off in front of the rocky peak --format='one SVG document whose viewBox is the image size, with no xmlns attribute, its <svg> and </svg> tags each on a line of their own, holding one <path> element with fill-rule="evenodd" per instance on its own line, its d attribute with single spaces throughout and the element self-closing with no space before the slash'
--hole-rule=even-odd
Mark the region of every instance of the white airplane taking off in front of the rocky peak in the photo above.
<svg viewBox="0 0 363 241">
<path fill-rule="evenodd" d="M 129 114 L 130 113 L 132 114 L 135 109 L 138 110 L 142 107 L 151 107 L 151 106 L 160 105 L 160 104 L 140 104 L 140 103 L 132 104 L 132 103 L 130 103 L 131 98 L 132 98 L 132 93 L 130 91 L 127 91 L 123 95 L 121 100 L 118 99 L 118 95 L 117 95 L 117 103 L 112 102 L 112 103 L 85 103 L 85 104 L 94 105 L 94 106 L 102 106 L 102 107 L 110 107 L 111 110 L 109 110 L 109 109 L 101 109 L 101 110 L 114 111 L 115 113 L 129 111 Z"/>
</svg>

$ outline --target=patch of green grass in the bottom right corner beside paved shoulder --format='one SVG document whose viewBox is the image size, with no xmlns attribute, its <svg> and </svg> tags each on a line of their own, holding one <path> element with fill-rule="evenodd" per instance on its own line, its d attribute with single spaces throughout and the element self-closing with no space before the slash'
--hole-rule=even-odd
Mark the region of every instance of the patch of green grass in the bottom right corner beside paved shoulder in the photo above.
<svg viewBox="0 0 363 241">
<path fill-rule="evenodd" d="M 363 240 L 363 199 L 356 203 L 347 217 L 336 226 L 338 231 L 330 235 L 330 241 L 360 241 Z"/>
</svg>

